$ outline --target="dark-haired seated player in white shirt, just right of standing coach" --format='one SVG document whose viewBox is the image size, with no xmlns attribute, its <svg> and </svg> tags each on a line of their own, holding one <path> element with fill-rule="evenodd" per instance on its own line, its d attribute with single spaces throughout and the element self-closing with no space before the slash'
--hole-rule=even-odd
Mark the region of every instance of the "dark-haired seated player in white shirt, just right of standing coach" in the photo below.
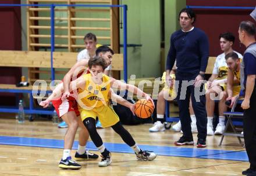
<svg viewBox="0 0 256 176">
<path fill-rule="evenodd" d="M 225 60 L 225 56 L 228 53 L 235 52 L 233 51 L 233 43 L 234 43 L 234 35 L 230 32 L 225 32 L 219 35 L 219 45 L 221 46 L 222 54 L 216 57 L 216 61 L 214 64 L 214 69 L 212 71 L 211 77 L 208 79 L 206 88 L 206 111 L 207 111 L 207 135 L 218 135 L 222 134 L 225 129 L 225 116 L 223 112 L 226 111 L 227 107 L 225 105 L 225 101 L 227 98 L 226 93 L 226 83 L 227 83 L 227 64 Z M 237 53 L 240 58 L 240 53 Z M 220 95 L 223 95 L 220 97 Z M 212 97 L 214 95 L 214 97 Z M 215 101 L 218 102 L 219 109 L 219 123 L 216 126 L 216 130 L 214 131 L 213 119 L 214 119 L 214 108 Z"/>
</svg>

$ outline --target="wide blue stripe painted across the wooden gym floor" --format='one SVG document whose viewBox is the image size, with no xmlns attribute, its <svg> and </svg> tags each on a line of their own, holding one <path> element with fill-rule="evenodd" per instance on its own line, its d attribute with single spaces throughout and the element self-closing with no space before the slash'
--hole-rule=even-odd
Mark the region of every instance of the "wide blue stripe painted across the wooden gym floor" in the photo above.
<svg viewBox="0 0 256 176">
<path fill-rule="evenodd" d="M 29 137 L 10 137 L 0 136 L 1 145 L 34 146 L 42 148 L 63 148 L 63 140 Z M 126 144 L 104 142 L 105 147 L 111 152 L 134 153 Z M 78 141 L 74 141 L 72 149 L 77 149 Z M 177 157 L 196 157 L 202 159 L 222 159 L 248 161 L 245 151 L 225 151 L 216 149 L 184 148 L 175 146 L 139 145 L 141 149 L 154 151 L 157 155 L 177 156 Z M 98 151 L 93 142 L 87 142 L 87 149 Z"/>
</svg>

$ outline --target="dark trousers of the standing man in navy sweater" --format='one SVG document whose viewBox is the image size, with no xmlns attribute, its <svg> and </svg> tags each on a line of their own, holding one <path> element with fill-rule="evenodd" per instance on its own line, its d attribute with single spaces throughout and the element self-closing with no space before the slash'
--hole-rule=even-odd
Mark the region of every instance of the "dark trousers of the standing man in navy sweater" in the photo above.
<svg viewBox="0 0 256 176">
<path fill-rule="evenodd" d="M 199 71 L 198 71 L 199 72 Z M 191 133 L 191 119 L 189 113 L 189 101 L 191 95 L 192 106 L 194 109 L 195 117 L 197 119 L 197 137 L 203 140 L 206 140 L 207 137 L 207 113 L 205 109 L 205 94 L 202 96 L 195 95 L 195 89 L 200 89 L 202 91 L 202 87 L 195 88 L 193 85 L 189 85 L 186 87 L 187 82 L 194 80 L 197 77 L 197 74 L 187 74 L 176 72 L 176 80 L 179 80 L 179 85 L 176 84 L 177 89 L 177 103 L 179 105 L 179 116 L 180 122 L 182 124 L 182 131 L 184 137 L 191 138 L 193 137 Z M 196 100 L 195 98 L 198 97 Z M 184 100 L 182 100 L 184 99 Z"/>
</svg>

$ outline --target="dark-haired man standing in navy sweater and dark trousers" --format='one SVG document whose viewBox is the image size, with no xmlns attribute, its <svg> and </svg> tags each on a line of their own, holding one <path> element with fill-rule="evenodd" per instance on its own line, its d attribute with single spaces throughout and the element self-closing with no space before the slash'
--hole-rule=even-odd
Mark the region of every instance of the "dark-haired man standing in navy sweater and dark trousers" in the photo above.
<svg viewBox="0 0 256 176">
<path fill-rule="evenodd" d="M 179 14 L 181 30 L 170 37 L 170 49 L 166 60 L 166 83 L 173 85 L 169 72 L 173 64 L 176 71 L 176 100 L 179 105 L 179 116 L 182 124 L 183 136 L 175 145 L 194 145 L 191 133 L 189 114 L 189 100 L 191 100 L 197 119 L 198 140 L 197 147 L 206 147 L 207 113 L 205 110 L 205 95 L 202 80 L 208 64 L 209 42 L 207 35 L 199 28 L 195 28 L 195 13 L 192 9 L 182 9 Z M 179 83 L 177 82 L 179 81 Z M 202 95 L 201 95 L 202 94 Z"/>
</svg>

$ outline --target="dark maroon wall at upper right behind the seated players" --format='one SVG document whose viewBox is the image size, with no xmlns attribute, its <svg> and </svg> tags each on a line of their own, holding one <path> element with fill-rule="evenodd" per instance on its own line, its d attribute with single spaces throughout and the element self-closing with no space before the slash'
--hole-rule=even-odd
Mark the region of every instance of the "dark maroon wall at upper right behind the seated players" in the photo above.
<svg viewBox="0 0 256 176">
<path fill-rule="evenodd" d="M 243 6 L 254 7 L 254 0 L 229 0 L 229 1 L 204 1 L 204 0 L 187 0 L 187 5 L 191 6 Z M 209 38 L 210 56 L 221 54 L 219 46 L 219 34 L 222 32 L 232 32 L 236 37 L 233 49 L 243 54 L 245 47 L 240 45 L 238 38 L 239 24 L 243 20 L 254 21 L 249 15 L 252 10 L 232 10 L 232 9 L 194 9 L 197 19 L 195 27 L 201 28 Z M 255 21 L 254 21 L 255 23 Z"/>
</svg>

